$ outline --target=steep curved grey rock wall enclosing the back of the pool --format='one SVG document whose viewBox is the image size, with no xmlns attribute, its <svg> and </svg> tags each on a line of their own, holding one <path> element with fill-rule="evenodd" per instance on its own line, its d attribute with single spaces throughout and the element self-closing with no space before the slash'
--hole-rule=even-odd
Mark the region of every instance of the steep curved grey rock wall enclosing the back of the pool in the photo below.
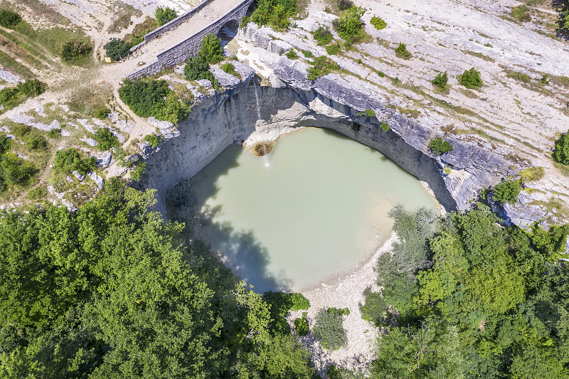
<svg viewBox="0 0 569 379">
<path fill-rule="evenodd" d="M 165 142 L 147 159 L 147 171 L 138 186 L 156 188 L 158 209 L 164 212 L 167 189 L 196 174 L 229 144 L 275 139 L 299 127 L 325 127 L 381 151 L 427 183 L 447 210 L 462 208 L 457 206 L 457 199 L 441 175 L 440 161 L 406 139 L 412 129 L 414 144 L 427 138 L 428 132 L 417 130 L 416 124 L 404 118 L 394 118 L 393 129 L 384 132 L 377 120 L 357 113 L 355 108 L 316 90 L 249 86 L 228 90 L 193 108 L 188 121 L 179 125 L 180 135 Z"/>
</svg>

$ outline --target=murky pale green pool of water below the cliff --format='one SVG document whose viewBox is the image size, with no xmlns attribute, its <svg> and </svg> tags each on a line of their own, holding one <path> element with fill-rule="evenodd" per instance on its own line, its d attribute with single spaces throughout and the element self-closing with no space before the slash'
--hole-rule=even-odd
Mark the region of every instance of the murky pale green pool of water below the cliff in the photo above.
<svg viewBox="0 0 569 379">
<path fill-rule="evenodd" d="M 256 292 L 299 291 L 356 268 L 388 238 L 395 203 L 437 208 L 383 154 L 317 128 L 262 157 L 230 146 L 193 188 L 208 220 L 198 233 Z"/>
</svg>

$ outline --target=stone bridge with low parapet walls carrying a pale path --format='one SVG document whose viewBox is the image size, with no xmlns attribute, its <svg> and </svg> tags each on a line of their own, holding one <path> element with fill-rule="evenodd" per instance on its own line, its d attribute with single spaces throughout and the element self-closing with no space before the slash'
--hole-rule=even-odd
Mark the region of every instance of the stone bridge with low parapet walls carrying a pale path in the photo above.
<svg viewBox="0 0 569 379">
<path fill-rule="evenodd" d="M 237 26 L 254 1 L 203 0 L 185 14 L 151 31 L 144 36 L 144 42 L 131 49 L 130 57 L 124 62 L 127 63 L 125 69 L 132 67 L 127 78 L 154 75 L 183 63 L 200 50 L 207 34 L 217 35 L 226 25 Z"/>
</svg>

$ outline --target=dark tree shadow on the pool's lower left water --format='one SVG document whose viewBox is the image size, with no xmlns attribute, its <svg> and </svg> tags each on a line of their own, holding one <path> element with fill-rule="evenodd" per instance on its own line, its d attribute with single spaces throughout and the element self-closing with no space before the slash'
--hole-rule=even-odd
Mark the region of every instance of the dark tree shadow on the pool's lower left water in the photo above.
<svg viewBox="0 0 569 379">
<path fill-rule="evenodd" d="M 282 272 L 270 272 L 270 257 L 267 248 L 262 246 L 252 230 L 235 230 L 229 222 L 211 222 L 211 216 L 220 212 L 222 207 L 208 210 L 208 220 L 204 220 L 202 228 L 207 228 L 207 240 L 212 246 L 211 250 L 220 257 L 226 267 L 233 273 L 254 286 L 253 290 L 259 294 L 266 291 L 289 292 L 292 281 Z"/>
</svg>

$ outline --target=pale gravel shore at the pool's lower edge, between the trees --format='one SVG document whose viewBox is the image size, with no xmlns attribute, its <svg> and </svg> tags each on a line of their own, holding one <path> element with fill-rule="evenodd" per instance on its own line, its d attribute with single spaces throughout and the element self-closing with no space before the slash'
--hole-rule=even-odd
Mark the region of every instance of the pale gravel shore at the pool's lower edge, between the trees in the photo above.
<svg viewBox="0 0 569 379">
<path fill-rule="evenodd" d="M 349 308 L 349 316 L 344 317 L 344 328 L 348 334 L 348 344 L 337 351 L 327 351 L 321 348 L 318 341 L 309 334 L 300 340 L 312 352 L 312 362 L 320 375 L 326 371 L 330 363 L 344 368 L 365 369 L 375 358 L 375 344 L 378 330 L 371 322 L 361 319 L 359 304 L 363 303 L 363 290 L 366 287 L 376 288 L 377 274 L 374 268 L 379 257 L 392 250 L 393 242 L 397 239 L 391 233 L 381 247 L 362 265 L 352 269 L 348 274 L 306 289 L 301 293 L 310 301 L 308 319 L 310 328 L 314 327 L 314 318 L 320 309 L 329 307 Z M 302 311 L 290 312 L 289 323 L 302 316 Z"/>
</svg>

